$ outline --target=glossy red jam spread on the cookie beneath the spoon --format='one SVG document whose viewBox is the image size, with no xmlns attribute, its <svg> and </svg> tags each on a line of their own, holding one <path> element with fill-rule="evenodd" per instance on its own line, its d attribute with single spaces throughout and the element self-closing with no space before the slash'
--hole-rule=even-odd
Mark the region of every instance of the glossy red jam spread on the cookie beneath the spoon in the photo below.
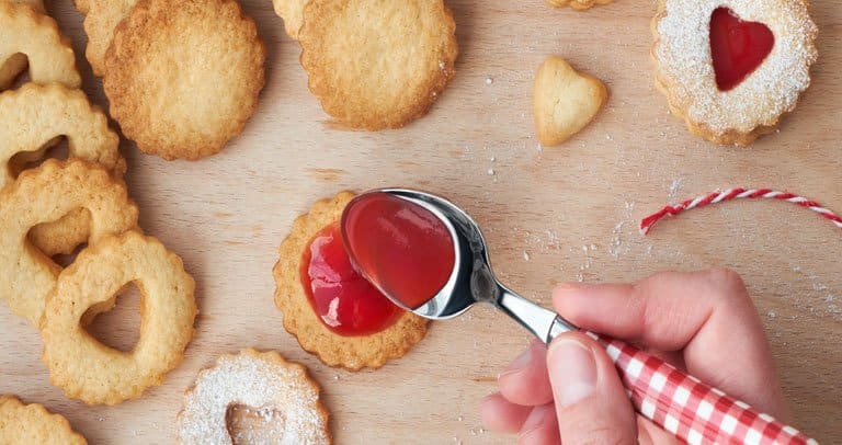
<svg viewBox="0 0 842 445">
<path fill-rule="evenodd" d="M 351 264 L 339 224 L 318 232 L 301 259 L 301 284 L 312 309 L 339 335 L 369 335 L 397 321 L 402 310 Z"/>
</svg>

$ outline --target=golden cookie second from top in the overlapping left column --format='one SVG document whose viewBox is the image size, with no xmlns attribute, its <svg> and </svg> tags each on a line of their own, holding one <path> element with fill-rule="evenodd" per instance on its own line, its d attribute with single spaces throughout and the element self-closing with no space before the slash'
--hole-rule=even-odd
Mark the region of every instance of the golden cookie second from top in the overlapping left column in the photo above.
<svg viewBox="0 0 842 445">
<path fill-rule="evenodd" d="M 100 163 L 114 178 L 126 172 L 126 161 L 117 150 L 120 137 L 81 90 L 26 83 L 0 94 L 0 189 L 25 167 L 11 164 L 13 157 L 27 153 L 26 161 L 41 160 L 43 149 L 60 136 L 67 137 L 69 158 Z M 30 240 L 47 256 L 68 254 L 88 239 L 90 226 L 90 214 L 78 209 L 56 222 L 34 227 Z"/>
</svg>

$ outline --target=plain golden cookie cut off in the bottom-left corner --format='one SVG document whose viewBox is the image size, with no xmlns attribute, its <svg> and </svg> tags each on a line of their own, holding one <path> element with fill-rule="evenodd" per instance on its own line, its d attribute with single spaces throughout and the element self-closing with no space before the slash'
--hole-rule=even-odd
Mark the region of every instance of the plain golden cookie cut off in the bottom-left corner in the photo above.
<svg viewBox="0 0 842 445">
<path fill-rule="evenodd" d="M 0 444 L 86 445 L 88 441 L 70 427 L 62 415 L 41 404 L 24 404 L 14 396 L 0 396 Z"/>
</svg>

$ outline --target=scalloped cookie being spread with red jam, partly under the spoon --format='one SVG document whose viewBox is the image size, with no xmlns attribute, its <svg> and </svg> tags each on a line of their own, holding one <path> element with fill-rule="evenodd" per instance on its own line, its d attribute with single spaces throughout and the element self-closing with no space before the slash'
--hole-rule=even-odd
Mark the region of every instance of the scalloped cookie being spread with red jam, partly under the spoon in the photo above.
<svg viewBox="0 0 842 445">
<path fill-rule="evenodd" d="M 395 306 L 351 265 L 339 221 L 353 197 L 340 193 L 298 217 L 273 272 L 284 328 L 327 365 L 359 370 L 403 356 L 428 320 Z"/>
</svg>

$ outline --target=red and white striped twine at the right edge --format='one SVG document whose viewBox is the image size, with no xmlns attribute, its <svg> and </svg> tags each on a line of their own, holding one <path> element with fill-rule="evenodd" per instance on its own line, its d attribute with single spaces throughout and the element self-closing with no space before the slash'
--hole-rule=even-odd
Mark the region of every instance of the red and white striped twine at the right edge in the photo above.
<svg viewBox="0 0 842 445">
<path fill-rule="evenodd" d="M 777 199 L 777 201 L 785 201 L 787 203 L 793 203 L 801 207 L 809 208 L 812 212 L 816 212 L 821 217 L 829 219 L 834 226 L 842 229 L 842 217 L 834 214 L 830 209 L 822 207 L 821 204 L 815 201 L 808 199 L 804 196 L 798 196 L 798 195 L 786 193 L 786 192 L 775 192 L 771 189 L 730 189 L 722 192 L 714 192 L 706 196 L 699 196 L 695 199 L 687 199 L 674 206 L 668 205 L 663 207 L 660 212 L 644 218 L 640 221 L 640 231 L 644 235 L 649 233 L 649 230 L 651 230 L 652 226 L 655 226 L 658 221 L 660 221 L 667 216 L 676 216 L 685 210 L 690 210 L 691 208 L 704 207 L 709 204 L 718 204 L 726 201 L 740 199 L 740 198 L 746 198 L 746 199 L 769 198 L 769 199 Z"/>
</svg>

